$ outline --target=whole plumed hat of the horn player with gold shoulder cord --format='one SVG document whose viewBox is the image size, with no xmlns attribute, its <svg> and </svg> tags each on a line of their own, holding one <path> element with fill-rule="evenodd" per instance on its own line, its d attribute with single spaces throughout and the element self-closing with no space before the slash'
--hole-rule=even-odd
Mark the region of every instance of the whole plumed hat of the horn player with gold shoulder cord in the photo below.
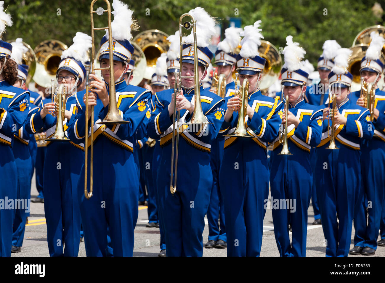
<svg viewBox="0 0 385 283">
<path fill-rule="evenodd" d="M 241 32 L 243 39 L 241 41 L 241 51 L 236 57 L 237 72 L 240 75 L 255 75 L 263 71 L 266 59 L 259 56 L 258 47 L 263 39 L 261 28 L 259 28 L 261 20 L 254 25 L 247 25 Z"/>
</svg>

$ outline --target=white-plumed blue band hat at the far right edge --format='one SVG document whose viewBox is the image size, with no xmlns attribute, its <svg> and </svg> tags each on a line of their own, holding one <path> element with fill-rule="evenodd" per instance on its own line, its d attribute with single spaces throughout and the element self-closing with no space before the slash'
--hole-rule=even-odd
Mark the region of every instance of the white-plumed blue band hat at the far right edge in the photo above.
<svg viewBox="0 0 385 283">
<path fill-rule="evenodd" d="M 361 60 L 361 71 L 370 71 L 382 73 L 384 65 L 380 60 L 381 50 L 385 44 L 385 39 L 378 35 L 377 32 L 371 32 L 372 41 L 366 50 L 365 57 Z"/>
</svg>

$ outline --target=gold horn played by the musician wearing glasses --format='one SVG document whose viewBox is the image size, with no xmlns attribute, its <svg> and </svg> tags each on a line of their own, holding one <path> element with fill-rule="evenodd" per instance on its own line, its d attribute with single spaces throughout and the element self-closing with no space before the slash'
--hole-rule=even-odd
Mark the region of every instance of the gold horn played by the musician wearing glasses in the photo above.
<svg viewBox="0 0 385 283">
<path fill-rule="evenodd" d="M 54 135 L 45 141 L 70 141 L 64 131 L 64 112 L 65 112 L 65 94 L 67 94 L 67 88 L 64 84 L 59 85 L 59 90 L 57 94 L 55 94 L 55 81 L 51 81 L 51 98 L 52 102 L 55 102 L 55 110 L 57 111 L 57 115 L 52 114 L 52 116 L 56 116 L 56 128 Z"/>
</svg>

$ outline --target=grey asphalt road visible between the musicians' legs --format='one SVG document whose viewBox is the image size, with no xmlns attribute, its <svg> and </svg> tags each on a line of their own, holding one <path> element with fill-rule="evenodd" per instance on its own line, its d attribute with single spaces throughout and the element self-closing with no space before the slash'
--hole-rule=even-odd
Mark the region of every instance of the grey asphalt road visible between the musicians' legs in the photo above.
<svg viewBox="0 0 385 283">
<path fill-rule="evenodd" d="M 35 198 L 37 190 L 35 178 L 32 180 L 31 198 Z M 308 233 L 306 244 L 306 256 L 325 256 L 325 240 L 321 225 L 311 225 L 313 222 L 313 208 L 310 204 L 308 209 Z M 203 243 L 208 240 L 208 225 L 203 231 Z M 135 228 L 134 256 L 157 256 L 159 249 L 159 228 L 146 228 L 148 223 L 147 207 L 139 206 L 139 217 Z M 267 210 L 264 218 L 263 240 L 261 256 L 279 256 L 274 237 L 273 219 L 271 210 Z M 354 228 L 352 231 L 353 248 Z M 79 237 L 80 238 L 80 237 Z M 80 243 L 79 256 L 85 256 L 84 242 Z M 20 253 L 12 256 L 49 256 L 47 246 L 47 226 L 45 223 L 44 204 L 31 203 L 30 217 L 25 228 L 23 246 Z M 203 256 L 226 256 L 226 249 L 203 249 Z M 378 247 L 375 256 L 385 256 L 385 247 Z"/>
</svg>

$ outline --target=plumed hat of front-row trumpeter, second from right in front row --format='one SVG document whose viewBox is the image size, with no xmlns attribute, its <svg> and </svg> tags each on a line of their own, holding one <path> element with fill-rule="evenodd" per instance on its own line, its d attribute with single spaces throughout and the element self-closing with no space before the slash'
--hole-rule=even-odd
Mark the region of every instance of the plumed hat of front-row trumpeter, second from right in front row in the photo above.
<svg viewBox="0 0 385 283">
<path fill-rule="evenodd" d="M 303 70 L 304 64 L 301 60 L 305 57 L 306 51 L 299 46 L 298 42 L 293 42 L 293 37 L 286 37 L 286 47 L 283 49 L 285 64 L 281 70 L 281 85 L 296 86 L 306 85 L 309 74 Z"/>
</svg>

